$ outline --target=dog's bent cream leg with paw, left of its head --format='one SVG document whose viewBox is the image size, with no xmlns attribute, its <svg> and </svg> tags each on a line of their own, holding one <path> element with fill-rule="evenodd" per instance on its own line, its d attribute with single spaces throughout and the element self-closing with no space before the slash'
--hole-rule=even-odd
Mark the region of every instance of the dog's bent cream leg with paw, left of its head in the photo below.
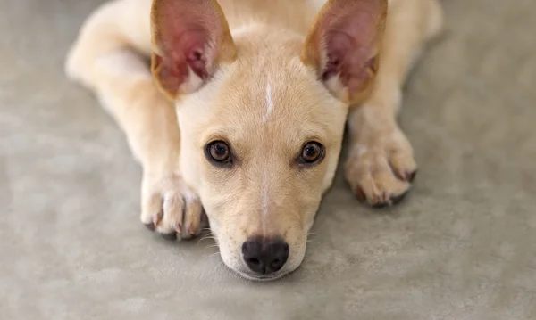
<svg viewBox="0 0 536 320">
<path fill-rule="evenodd" d="M 150 45 L 150 1 L 98 8 L 67 57 L 68 76 L 95 92 L 143 166 L 141 220 L 169 237 L 189 238 L 202 208 L 178 174 L 180 130 L 174 106 L 155 86 L 143 54 Z"/>
</svg>

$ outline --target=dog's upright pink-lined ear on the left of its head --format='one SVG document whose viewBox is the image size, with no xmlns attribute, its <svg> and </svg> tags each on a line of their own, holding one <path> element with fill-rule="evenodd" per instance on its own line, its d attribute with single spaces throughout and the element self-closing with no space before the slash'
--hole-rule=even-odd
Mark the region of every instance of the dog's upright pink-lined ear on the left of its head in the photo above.
<svg viewBox="0 0 536 320">
<path fill-rule="evenodd" d="M 196 91 L 236 48 L 216 0 L 154 0 L 151 9 L 151 72 L 163 92 L 176 99 Z"/>
</svg>

